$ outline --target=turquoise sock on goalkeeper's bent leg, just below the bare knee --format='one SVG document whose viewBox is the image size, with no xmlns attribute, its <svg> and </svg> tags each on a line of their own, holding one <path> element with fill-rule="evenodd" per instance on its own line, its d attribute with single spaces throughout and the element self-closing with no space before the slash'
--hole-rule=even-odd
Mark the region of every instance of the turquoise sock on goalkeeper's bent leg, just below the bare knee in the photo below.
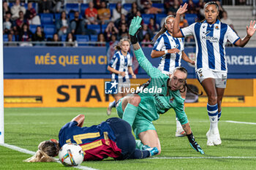
<svg viewBox="0 0 256 170">
<path fill-rule="evenodd" d="M 125 107 L 124 109 L 123 120 L 127 121 L 127 123 L 132 126 L 137 112 L 138 107 L 135 107 L 134 105 L 128 103 L 127 107 Z"/>
</svg>

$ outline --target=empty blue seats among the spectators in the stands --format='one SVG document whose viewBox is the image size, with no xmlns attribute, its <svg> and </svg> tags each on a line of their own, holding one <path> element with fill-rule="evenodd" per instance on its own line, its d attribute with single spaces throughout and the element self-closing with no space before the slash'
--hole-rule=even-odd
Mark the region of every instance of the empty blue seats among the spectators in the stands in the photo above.
<svg viewBox="0 0 256 170">
<path fill-rule="evenodd" d="M 194 3 L 198 3 L 199 0 L 192 0 Z M 128 1 L 127 1 L 128 2 Z M 188 0 L 183 0 L 183 2 L 188 2 Z M 65 1 L 66 3 L 66 1 Z M 69 21 L 73 20 L 75 18 L 75 11 L 78 11 L 80 12 L 80 15 L 79 15 L 79 18 L 80 19 L 84 19 L 85 18 L 85 10 L 89 7 L 89 4 L 80 4 L 80 3 L 67 3 L 65 4 L 64 3 L 64 11 L 67 13 L 67 18 Z M 14 3 L 10 3 L 10 7 L 12 7 Z M 25 3 L 21 3 L 21 5 L 23 5 L 24 7 L 27 8 L 28 4 L 25 4 Z M 116 9 L 116 3 L 107 3 L 107 7 L 110 9 L 110 12 L 112 14 L 113 12 L 113 9 Z M 159 14 L 144 14 L 142 13 L 141 14 L 141 17 L 143 18 L 143 22 L 145 24 L 148 24 L 150 19 L 153 18 L 155 20 L 155 23 L 159 24 L 160 27 L 161 26 L 161 21 L 163 18 L 165 18 L 167 15 L 166 15 L 166 11 L 165 11 L 165 5 L 163 3 L 153 3 L 152 4 L 153 7 L 157 7 L 159 9 L 162 9 L 162 13 L 159 13 Z M 33 3 L 33 7 L 34 9 L 36 9 L 36 11 L 38 12 L 39 10 L 39 3 L 36 3 L 34 2 Z M 131 3 L 124 3 L 122 4 L 122 7 L 124 9 L 127 10 L 127 12 L 130 12 L 131 9 L 132 9 L 132 4 Z M 51 12 L 51 11 L 50 11 Z M 41 21 L 41 25 L 30 25 L 29 28 L 31 30 L 31 32 L 34 34 L 36 32 L 36 29 L 37 29 L 37 26 L 41 26 L 43 31 L 45 32 L 45 37 L 46 38 L 52 38 L 53 34 L 56 34 L 58 33 L 57 31 L 59 30 L 56 30 L 56 20 L 59 20 L 61 18 L 61 13 L 37 13 L 37 15 L 39 15 L 39 18 L 40 18 L 40 21 Z M 127 15 L 126 19 L 128 19 L 128 16 Z M 191 23 L 194 23 L 195 22 L 195 19 L 197 18 L 197 15 L 195 14 L 187 14 L 186 13 L 186 16 L 185 16 L 185 19 L 188 20 L 188 23 L 189 25 Z M 100 23 L 99 20 L 97 20 L 97 22 L 99 24 L 97 25 L 91 25 L 90 23 L 87 23 L 88 20 L 85 20 L 85 23 L 83 23 L 84 27 L 83 28 L 80 28 L 80 30 L 82 31 L 77 31 L 77 34 L 89 34 L 89 36 L 80 36 L 80 35 L 74 35 L 74 36 L 77 36 L 77 41 L 97 41 L 97 35 L 91 35 L 91 34 L 100 34 L 100 33 L 104 33 L 105 32 L 105 29 L 107 28 L 108 26 L 108 21 L 105 22 L 104 25 L 102 25 Z M 126 20 L 126 23 L 129 24 L 130 23 L 130 20 Z M 114 23 L 116 28 L 118 28 L 119 23 L 118 23 L 118 20 Z M 69 26 L 70 28 L 70 26 Z M 70 29 L 67 29 L 67 32 L 70 31 Z M 128 28 L 127 28 L 128 29 Z M 153 34 L 156 34 L 157 31 L 159 30 L 156 30 L 154 29 L 153 30 Z M 6 34 L 6 33 L 4 33 Z M 118 34 L 118 33 L 116 33 Z M 60 34 L 61 35 L 61 34 Z M 17 36 L 17 34 L 16 34 Z M 66 41 L 66 35 L 63 35 L 63 36 L 60 36 L 59 39 L 61 41 Z M 117 36 L 117 38 L 119 39 L 121 36 Z M 6 39 L 7 37 L 5 37 Z M 17 37 L 16 37 L 17 38 Z M 46 39 L 45 39 L 46 40 Z"/>
</svg>

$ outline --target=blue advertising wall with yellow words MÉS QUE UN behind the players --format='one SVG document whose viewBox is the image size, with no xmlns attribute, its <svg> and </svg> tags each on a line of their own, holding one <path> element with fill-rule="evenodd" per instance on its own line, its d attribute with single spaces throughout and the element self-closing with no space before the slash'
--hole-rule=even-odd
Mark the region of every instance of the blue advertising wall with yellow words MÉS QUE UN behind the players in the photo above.
<svg viewBox="0 0 256 170">
<path fill-rule="evenodd" d="M 154 66 L 160 58 L 151 58 L 151 48 L 143 48 Z M 187 47 L 189 58 L 195 58 L 195 48 Z M 229 78 L 256 78 L 256 48 L 230 47 L 226 50 Z M 110 78 L 105 47 L 4 47 L 5 79 Z M 146 72 L 136 66 L 138 78 Z M 195 69 L 182 61 L 189 78 Z"/>
</svg>

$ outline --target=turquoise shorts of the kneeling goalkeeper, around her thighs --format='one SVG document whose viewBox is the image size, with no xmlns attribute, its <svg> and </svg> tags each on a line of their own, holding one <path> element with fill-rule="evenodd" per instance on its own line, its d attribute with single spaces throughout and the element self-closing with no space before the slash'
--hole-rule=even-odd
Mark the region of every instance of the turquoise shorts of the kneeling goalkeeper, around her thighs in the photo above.
<svg viewBox="0 0 256 170">
<path fill-rule="evenodd" d="M 124 115 L 123 109 L 121 108 L 122 100 L 123 98 L 119 99 L 116 107 L 117 114 L 120 118 L 122 118 Z M 153 123 L 150 120 L 143 117 L 143 115 L 140 115 L 140 112 L 138 112 L 135 117 L 135 121 L 132 124 L 132 129 L 137 139 L 139 139 L 138 134 L 140 134 L 143 131 L 148 131 L 148 130 L 156 131 L 156 128 L 154 127 Z"/>
</svg>

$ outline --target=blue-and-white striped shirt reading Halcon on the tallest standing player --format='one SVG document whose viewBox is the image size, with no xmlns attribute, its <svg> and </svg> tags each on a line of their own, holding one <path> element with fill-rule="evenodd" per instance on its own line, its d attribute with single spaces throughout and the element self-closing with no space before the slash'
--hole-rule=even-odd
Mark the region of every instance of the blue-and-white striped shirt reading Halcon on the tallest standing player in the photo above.
<svg viewBox="0 0 256 170">
<path fill-rule="evenodd" d="M 235 44 L 240 37 L 230 26 L 217 20 L 210 25 L 206 22 L 193 23 L 181 28 L 183 36 L 193 35 L 196 43 L 195 70 L 211 69 L 215 72 L 227 72 L 225 45 L 227 40 Z"/>
</svg>

